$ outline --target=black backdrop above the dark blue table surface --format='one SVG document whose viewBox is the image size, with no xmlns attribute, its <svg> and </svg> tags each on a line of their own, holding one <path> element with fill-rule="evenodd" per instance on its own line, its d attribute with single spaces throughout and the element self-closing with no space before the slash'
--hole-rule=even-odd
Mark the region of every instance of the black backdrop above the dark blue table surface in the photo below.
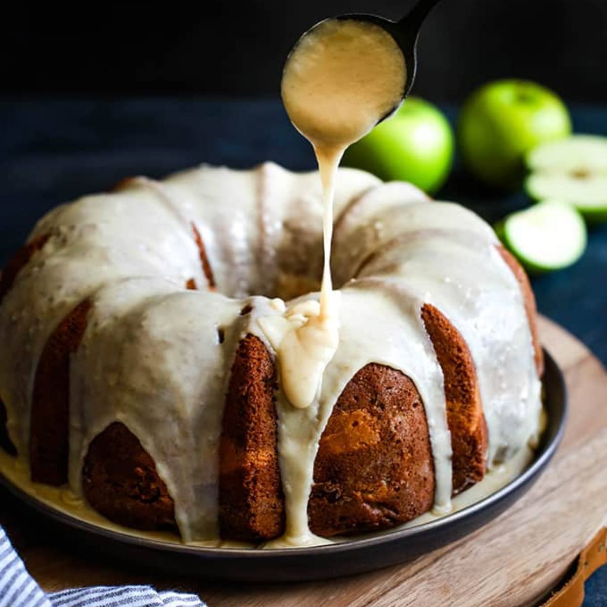
<svg viewBox="0 0 607 607">
<path fill-rule="evenodd" d="M 288 50 L 316 21 L 398 18 L 412 2 L 37 4 L 3 8 L 5 92 L 277 95 Z M 607 0 L 444 0 L 424 25 L 419 58 L 415 94 L 433 101 L 458 102 L 487 80 L 517 76 L 568 101 L 607 102 Z"/>
</svg>

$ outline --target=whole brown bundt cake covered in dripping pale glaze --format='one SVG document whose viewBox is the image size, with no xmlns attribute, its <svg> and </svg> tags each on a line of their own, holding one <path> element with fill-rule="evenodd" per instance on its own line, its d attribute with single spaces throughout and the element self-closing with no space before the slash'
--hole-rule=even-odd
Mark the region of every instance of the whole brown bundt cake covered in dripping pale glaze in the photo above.
<svg viewBox="0 0 607 607">
<path fill-rule="evenodd" d="M 486 223 L 411 185 L 340 169 L 334 209 L 339 346 L 305 409 L 262 327 L 318 299 L 316 173 L 203 166 L 51 211 L 0 282 L 0 446 L 183 541 L 448 510 L 537 437 L 529 283 Z"/>
</svg>

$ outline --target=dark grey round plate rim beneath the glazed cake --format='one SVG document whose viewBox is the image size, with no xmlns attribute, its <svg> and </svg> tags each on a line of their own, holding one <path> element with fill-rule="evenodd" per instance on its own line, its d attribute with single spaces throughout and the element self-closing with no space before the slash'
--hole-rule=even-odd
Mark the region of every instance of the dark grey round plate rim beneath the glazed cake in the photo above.
<svg viewBox="0 0 607 607">
<path fill-rule="evenodd" d="M 110 531 L 86 523 L 30 497 L 0 475 L 0 482 L 28 506 L 59 523 L 62 531 L 81 546 L 97 548 L 112 558 L 166 572 L 251 580 L 286 582 L 356 574 L 413 560 L 421 554 L 458 540 L 497 517 L 537 480 L 554 455 L 565 430 L 567 416 L 563 374 L 544 350 L 543 385 L 548 426 L 531 465 L 487 498 L 444 518 L 416 527 L 393 529 L 327 546 L 280 550 L 198 548 L 150 540 Z"/>
</svg>

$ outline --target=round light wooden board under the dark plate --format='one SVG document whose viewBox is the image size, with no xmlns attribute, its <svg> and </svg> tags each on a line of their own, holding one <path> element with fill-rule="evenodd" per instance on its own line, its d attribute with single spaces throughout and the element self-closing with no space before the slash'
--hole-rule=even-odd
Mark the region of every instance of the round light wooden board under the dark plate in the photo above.
<svg viewBox="0 0 607 607">
<path fill-rule="evenodd" d="M 197 592 L 209 607 L 532 605 L 607 524 L 607 373 L 546 319 L 541 341 L 565 372 L 570 416 L 548 470 L 512 508 L 472 535 L 408 565 L 325 582 L 243 585 L 169 578 L 63 546 L 57 532 L 0 492 L 0 523 L 42 588 L 151 583 Z"/>
</svg>

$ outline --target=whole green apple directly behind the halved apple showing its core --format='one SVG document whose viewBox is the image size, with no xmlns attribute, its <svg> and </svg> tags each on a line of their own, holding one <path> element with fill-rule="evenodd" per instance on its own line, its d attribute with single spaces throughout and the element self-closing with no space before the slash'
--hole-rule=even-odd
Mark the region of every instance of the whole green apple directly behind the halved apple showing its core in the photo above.
<svg viewBox="0 0 607 607">
<path fill-rule="evenodd" d="M 524 155 L 571 133 L 567 107 L 551 90 L 525 80 L 497 80 L 470 95 L 458 123 L 464 163 L 487 185 L 515 188 Z"/>
</svg>

